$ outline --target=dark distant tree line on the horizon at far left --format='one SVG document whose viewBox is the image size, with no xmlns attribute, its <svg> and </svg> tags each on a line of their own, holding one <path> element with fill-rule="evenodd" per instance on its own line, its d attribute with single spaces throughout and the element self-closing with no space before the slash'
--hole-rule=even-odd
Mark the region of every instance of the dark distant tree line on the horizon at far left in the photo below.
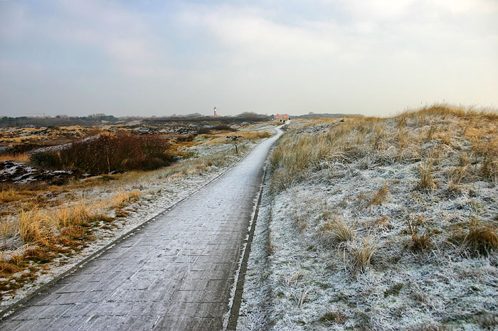
<svg viewBox="0 0 498 331">
<path fill-rule="evenodd" d="M 71 125 L 95 125 L 102 122 L 115 122 L 119 119 L 112 115 L 96 114 L 90 116 L 64 116 L 55 117 L 7 117 L 0 119 L 0 127 L 6 126 L 71 126 Z"/>
</svg>

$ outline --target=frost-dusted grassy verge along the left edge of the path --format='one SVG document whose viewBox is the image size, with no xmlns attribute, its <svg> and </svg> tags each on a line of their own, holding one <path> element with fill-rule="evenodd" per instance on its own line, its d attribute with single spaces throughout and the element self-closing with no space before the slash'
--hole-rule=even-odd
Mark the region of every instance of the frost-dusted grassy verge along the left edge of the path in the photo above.
<svg viewBox="0 0 498 331">
<path fill-rule="evenodd" d="M 19 271 L 12 274 L 11 278 L 0 278 L 2 285 L 0 309 L 33 293 L 43 284 L 78 264 L 86 256 L 101 249 L 102 246 L 203 188 L 211 180 L 231 168 L 257 143 L 257 140 L 241 142 L 238 155 L 234 153 L 232 143 L 219 143 L 207 149 L 197 146 L 196 149 L 201 153 L 194 158 L 180 161 L 176 165 L 146 173 L 125 173 L 119 175 L 119 180 L 107 176 L 101 178 L 108 178 L 105 185 L 89 187 L 83 185 L 83 188 L 68 190 L 54 197 L 60 202 L 55 201 L 50 204 L 53 207 L 49 205 L 31 214 L 26 212 L 26 215 L 31 217 L 29 220 L 31 223 L 34 219 L 39 219 L 41 223 L 44 223 L 51 221 L 53 217 L 59 219 L 62 214 L 71 213 L 81 206 L 87 214 L 93 212 L 94 209 L 97 210 L 94 213 L 98 213 L 99 219 L 102 220 L 97 220 L 97 224 L 92 225 L 90 240 L 84 242 L 85 248 L 74 252 L 68 251 L 68 254 L 60 254 L 48 263 L 46 261 L 42 264 L 36 261 L 23 262 L 21 265 L 23 268 L 19 268 Z M 95 178 L 86 180 L 95 180 Z M 62 202 L 65 202 L 64 205 Z M 105 216 L 102 217 L 100 214 Z M 4 268 L 16 268 L 17 266 L 11 262 L 26 256 L 26 252 L 30 250 L 36 250 L 36 246 L 23 244 L 19 233 L 7 235 L 9 224 L 18 222 L 16 217 L 4 217 L 2 222 L 4 240 L 0 256 L 0 271 L 4 272 Z M 60 231 L 64 232 L 65 229 L 63 227 Z M 53 229 L 53 231 L 58 230 Z M 16 285 L 16 281 L 20 283 Z"/>
</svg>

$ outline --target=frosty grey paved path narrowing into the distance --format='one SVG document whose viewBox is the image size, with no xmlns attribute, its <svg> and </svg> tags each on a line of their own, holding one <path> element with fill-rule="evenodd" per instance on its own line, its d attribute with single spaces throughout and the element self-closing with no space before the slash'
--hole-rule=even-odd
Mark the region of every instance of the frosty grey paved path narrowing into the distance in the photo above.
<svg viewBox="0 0 498 331">
<path fill-rule="evenodd" d="M 221 330 L 277 136 L 0 322 L 0 330 Z"/>
</svg>

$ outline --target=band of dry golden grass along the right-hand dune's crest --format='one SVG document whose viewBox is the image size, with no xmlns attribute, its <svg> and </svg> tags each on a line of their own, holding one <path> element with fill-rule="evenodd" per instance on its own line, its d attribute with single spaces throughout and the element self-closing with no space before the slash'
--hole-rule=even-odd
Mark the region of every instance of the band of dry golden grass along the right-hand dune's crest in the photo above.
<svg viewBox="0 0 498 331">
<path fill-rule="evenodd" d="M 391 119 L 348 116 L 339 121 L 328 121 L 330 131 L 322 134 L 295 134 L 290 131 L 282 136 L 270 157 L 277 175 L 274 188 L 285 190 L 311 175 L 323 163 L 351 163 L 370 156 L 377 163 L 393 161 L 418 164 L 419 188 L 437 188 L 434 165 L 458 153 L 455 143 L 462 133 L 472 143 L 469 155 L 474 167 L 462 168 L 452 175 L 450 191 L 456 192 L 462 180 L 478 175 L 485 180 L 498 178 L 498 115 L 489 111 L 477 111 L 459 107 L 434 106 L 406 112 Z M 299 121 L 299 120 L 297 120 Z M 393 125 L 394 123 L 394 125 Z M 322 121 L 309 121 L 302 127 L 321 125 Z M 455 137 L 460 137 L 455 140 Z M 423 143 L 431 142 L 430 148 Z M 468 161 L 467 161 L 468 162 Z M 369 165 L 365 165 L 368 167 Z"/>
</svg>

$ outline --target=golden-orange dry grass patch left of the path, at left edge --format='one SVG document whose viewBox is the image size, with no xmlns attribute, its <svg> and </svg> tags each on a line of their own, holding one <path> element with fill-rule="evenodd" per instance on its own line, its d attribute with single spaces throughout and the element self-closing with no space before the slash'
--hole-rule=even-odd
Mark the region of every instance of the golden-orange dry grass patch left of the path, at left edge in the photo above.
<svg viewBox="0 0 498 331">
<path fill-rule="evenodd" d="M 137 196 L 137 192 L 134 191 L 127 194 L 120 193 L 109 201 L 124 206 L 134 201 Z M 19 254 L 10 254 L 8 261 L 2 255 L 0 273 L 9 279 L 15 272 L 33 268 L 26 264 L 26 261 L 44 264 L 60 254 L 79 251 L 88 246 L 89 242 L 94 239 L 92 234 L 94 230 L 97 227 L 110 228 L 109 224 L 114 220 L 105 215 L 111 206 L 109 201 L 88 203 L 80 200 L 57 207 L 36 205 L 31 210 L 21 208 L 14 220 L 3 219 L 2 236 L 4 238 L 18 236 L 30 248 L 22 249 Z M 18 268 L 12 266 L 18 266 Z M 14 282 L 0 282 L 0 288 L 4 288 L 5 291 L 14 291 L 36 278 L 31 271 L 23 274 L 27 276 L 22 279 L 15 278 Z"/>
</svg>

